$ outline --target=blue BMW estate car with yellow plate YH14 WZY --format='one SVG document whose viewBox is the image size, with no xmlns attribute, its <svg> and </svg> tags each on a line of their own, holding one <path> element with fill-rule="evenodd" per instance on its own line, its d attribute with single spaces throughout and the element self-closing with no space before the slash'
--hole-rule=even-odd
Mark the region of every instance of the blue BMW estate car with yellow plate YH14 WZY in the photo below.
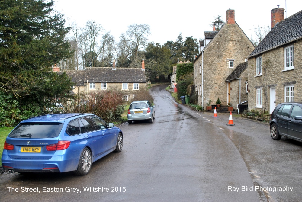
<svg viewBox="0 0 302 202">
<path fill-rule="evenodd" d="M 10 173 L 86 175 L 92 162 L 122 147 L 122 131 L 94 114 L 48 114 L 21 121 L 8 134 L 2 166 Z"/>
</svg>

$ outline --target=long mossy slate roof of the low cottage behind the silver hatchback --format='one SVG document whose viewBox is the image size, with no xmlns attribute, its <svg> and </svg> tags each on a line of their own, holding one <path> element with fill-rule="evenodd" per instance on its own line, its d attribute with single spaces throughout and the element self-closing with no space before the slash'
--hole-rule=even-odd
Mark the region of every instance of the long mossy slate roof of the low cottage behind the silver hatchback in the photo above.
<svg viewBox="0 0 302 202">
<path fill-rule="evenodd" d="M 146 83 L 145 71 L 141 68 L 86 67 L 85 70 L 66 70 L 66 74 L 78 86 L 85 82 Z"/>
</svg>

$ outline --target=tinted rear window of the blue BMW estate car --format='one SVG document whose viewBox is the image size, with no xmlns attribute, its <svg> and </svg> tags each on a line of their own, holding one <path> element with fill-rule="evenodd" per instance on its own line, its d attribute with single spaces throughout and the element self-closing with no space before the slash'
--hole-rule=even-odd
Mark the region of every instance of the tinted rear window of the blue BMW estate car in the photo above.
<svg viewBox="0 0 302 202">
<path fill-rule="evenodd" d="M 8 137 L 51 138 L 59 136 L 63 123 L 20 123 Z"/>
</svg>

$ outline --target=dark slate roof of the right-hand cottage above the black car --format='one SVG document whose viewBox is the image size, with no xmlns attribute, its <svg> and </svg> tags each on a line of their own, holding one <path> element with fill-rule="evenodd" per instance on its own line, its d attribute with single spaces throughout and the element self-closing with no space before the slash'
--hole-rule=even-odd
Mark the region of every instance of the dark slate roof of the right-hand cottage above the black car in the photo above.
<svg viewBox="0 0 302 202">
<path fill-rule="evenodd" d="M 279 22 L 259 43 L 248 58 L 302 38 L 302 11 Z"/>
</svg>

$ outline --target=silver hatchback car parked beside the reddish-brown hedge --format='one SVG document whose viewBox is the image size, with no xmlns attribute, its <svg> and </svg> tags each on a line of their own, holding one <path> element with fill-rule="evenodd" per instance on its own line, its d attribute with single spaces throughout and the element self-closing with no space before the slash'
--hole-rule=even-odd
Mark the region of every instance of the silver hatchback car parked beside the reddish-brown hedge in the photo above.
<svg viewBox="0 0 302 202">
<path fill-rule="evenodd" d="M 127 114 L 128 123 L 131 124 L 135 120 L 149 120 L 150 123 L 153 123 L 155 118 L 154 107 L 148 100 L 131 102 Z"/>
</svg>

